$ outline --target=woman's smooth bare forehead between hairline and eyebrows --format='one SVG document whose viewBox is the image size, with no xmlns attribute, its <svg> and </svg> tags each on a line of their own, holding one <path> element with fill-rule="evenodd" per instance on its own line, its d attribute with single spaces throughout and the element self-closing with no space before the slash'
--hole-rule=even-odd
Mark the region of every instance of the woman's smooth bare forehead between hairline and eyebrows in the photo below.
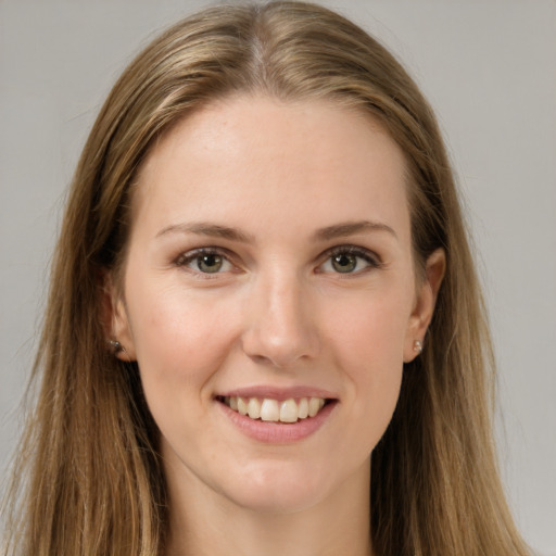
<svg viewBox="0 0 556 556">
<path fill-rule="evenodd" d="M 232 226 L 248 214 L 248 224 L 277 215 L 296 228 L 408 220 L 400 148 L 370 115 L 325 100 L 238 96 L 203 106 L 153 147 L 134 204 L 136 216 L 149 208 Z"/>
</svg>

